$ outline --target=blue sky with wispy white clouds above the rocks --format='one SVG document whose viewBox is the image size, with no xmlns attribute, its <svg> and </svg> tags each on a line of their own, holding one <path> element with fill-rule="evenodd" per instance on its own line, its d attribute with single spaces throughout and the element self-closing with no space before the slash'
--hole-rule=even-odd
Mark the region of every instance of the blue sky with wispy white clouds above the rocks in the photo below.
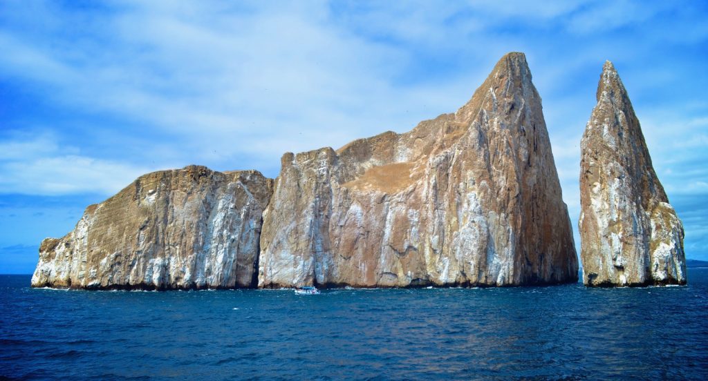
<svg viewBox="0 0 708 381">
<path fill-rule="evenodd" d="M 525 52 L 576 229 L 580 138 L 615 63 L 687 257 L 708 260 L 704 1 L 0 2 L 0 274 L 152 170 L 275 177 L 453 112 Z"/>
</svg>

